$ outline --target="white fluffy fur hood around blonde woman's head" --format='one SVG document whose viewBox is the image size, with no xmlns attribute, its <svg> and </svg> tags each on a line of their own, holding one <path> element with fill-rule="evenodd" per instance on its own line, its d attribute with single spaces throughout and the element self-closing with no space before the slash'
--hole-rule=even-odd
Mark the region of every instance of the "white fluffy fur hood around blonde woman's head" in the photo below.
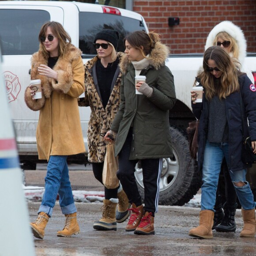
<svg viewBox="0 0 256 256">
<path fill-rule="evenodd" d="M 230 34 L 236 41 L 237 45 L 239 47 L 239 56 L 238 59 L 241 64 L 243 64 L 246 56 L 246 49 L 247 44 L 245 40 L 245 35 L 240 27 L 236 26 L 231 21 L 225 20 L 221 23 L 218 23 L 211 32 L 209 33 L 206 44 L 204 47 L 204 50 L 208 49 L 209 47 L 213 46 L 214 39 L 216 38 L 216 35 L 220 32 L 225 31 L 226 33 Z"/>
</svg>

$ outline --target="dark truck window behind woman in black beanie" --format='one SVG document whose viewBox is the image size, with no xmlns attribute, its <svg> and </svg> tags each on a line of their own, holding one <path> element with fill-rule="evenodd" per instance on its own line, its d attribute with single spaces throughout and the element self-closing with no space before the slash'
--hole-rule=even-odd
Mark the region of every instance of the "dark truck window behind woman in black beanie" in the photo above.
<svg viewBox="0 0 256 256">
<path fill-rule="evenodd" d="M 79 13 L 79 48 L 85 55 L 96 55 L 93 46 L 95 34 L 102 29 L 114 29 L 119 32 L 117 52 L 124 52 L 124 37 L 136 30 L 146 31 L 142 21 L 113 14 L 95 12 Z"/>
</svg>

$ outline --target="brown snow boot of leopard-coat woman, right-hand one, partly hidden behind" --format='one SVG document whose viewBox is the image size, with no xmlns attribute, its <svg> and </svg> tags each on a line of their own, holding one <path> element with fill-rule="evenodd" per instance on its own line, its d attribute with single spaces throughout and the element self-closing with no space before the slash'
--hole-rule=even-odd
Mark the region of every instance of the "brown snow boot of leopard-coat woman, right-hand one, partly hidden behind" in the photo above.
<svg viewBox="0 0 256 256">
<path fill-rule="evenodd" d="M 128 201 L 128 197 L 126 196 L 123 189 L 118 191 L 117 193 L 118 198 L 118 209 L 116 213 L 117 223 L 124 222 L 129 217 L 128 208 L 131 207 L 131 203 Z"/>
</svg>

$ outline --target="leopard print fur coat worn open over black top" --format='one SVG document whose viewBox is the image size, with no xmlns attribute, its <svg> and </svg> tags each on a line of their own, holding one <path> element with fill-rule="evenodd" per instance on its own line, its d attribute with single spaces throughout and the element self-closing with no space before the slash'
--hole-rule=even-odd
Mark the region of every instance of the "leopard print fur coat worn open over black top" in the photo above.
<svg viewBox="0 0 256 256">
<path fill-rule="evenodd" d="M 124 53 L 117 53 L 119 61 L 123 58 Z M 105 134 L 118 111 L 120 104 L 120 83 L 121 83 L 121 72 L 118 66 L 119 73 L 117 75 L 116 82 L 111 91 L 109 101 L 104 109 L 102 100 L 98 93 L 99 88 L 94 84 L 94 77 L 96 76 L 93 71 L 93 67 L 98 61 L 98 56 L 89 60 L 85 65 L 85 98 L 80 98 L 79 106 L 90 106 L 91 114 L 88 123 L 87 141 L 88 141 L 88 160 L 89 162 L 104 162 L 106 153 L 106 144 L 103 141 L 101 134 Z"/>
</svg>

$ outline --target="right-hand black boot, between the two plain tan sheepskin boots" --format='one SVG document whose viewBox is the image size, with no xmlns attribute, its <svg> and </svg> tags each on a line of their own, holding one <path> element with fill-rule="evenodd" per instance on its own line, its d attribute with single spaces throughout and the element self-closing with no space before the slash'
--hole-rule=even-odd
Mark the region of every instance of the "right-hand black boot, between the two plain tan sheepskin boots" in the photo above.
<svg viewBox="0 0 256 256">
<path fill-rule="evenodd" d="M 217 232 L 234 232 L 237 229 L 235 222 L 235 214 L 237 209 L 237 203 L 233 205 L 233 207 L 223 206 L 225 217 L 223 221 L 215 227 Z"/>
</svg>

